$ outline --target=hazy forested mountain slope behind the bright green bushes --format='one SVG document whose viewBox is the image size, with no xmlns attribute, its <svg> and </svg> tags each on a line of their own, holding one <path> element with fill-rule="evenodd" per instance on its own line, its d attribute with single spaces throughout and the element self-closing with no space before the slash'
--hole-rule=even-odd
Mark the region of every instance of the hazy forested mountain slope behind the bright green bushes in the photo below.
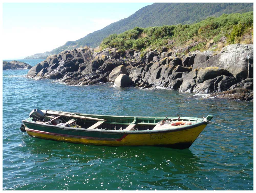
<svg viewBox="0 0 256 193">
<path fill-rule="evenodd" d="M 154 3 L 141 8 L 127 18 L 114 22 L 101 30 L 89 33 L 79 40 L 68 41 L 65 45 L 49 53 L 41 54 L 41 57 L 40 54 L 37 54 L 36 58 L 46 58 L 46 54 L 56 54 L 63 50 L 77 47 L 97 47 L 110 34 L 119 34 L 136 26 L 146 28 L 174 24 L 191 24 L 209 16 L 217 17 L 223 13 L 244 13 L 249 11 L 253 11 L 253 3 Z M 35 56 L 28 56 L 25 59 L 29 58 L 35 58 Z"/>
</svg>

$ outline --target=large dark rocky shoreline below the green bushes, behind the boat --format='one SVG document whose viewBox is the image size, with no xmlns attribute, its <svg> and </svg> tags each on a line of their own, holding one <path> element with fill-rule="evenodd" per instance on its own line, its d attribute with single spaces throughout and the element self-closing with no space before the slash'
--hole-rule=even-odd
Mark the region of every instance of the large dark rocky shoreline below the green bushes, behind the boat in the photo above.
<svg viewBox="0 0 256 193">
<path fill-rule="evenodd" d="M 48 56 L 31 68 L 27 76 L 58 79 L 68 85 L 115 82 L 118 86 L 161 86 L 179 92 L 213 93 L 217 98 L 253 100 L 253 44 L 248 45 L 248 57 L 245 44 L 231 44 L 220 52 L 189 52 L 194 44 L 147 53 L 119 52 L 115 48 L 100 52 L 90 48 L 66 50 Z M 235 93 L 240 95 L 228 96 L 236 96 Z"/>
</svg>

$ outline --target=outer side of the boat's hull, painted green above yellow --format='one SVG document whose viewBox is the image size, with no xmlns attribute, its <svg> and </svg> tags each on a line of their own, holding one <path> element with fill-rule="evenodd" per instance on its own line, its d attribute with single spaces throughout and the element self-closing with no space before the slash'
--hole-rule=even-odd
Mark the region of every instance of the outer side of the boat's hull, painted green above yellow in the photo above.
<svg viewBox="0 0 256 193">
<path fill-rule="evenodd" d="M 89 129 L 56 128 L 44 125 L 35 125 L 24 121 L 25 130 L 31 137 L 80 143 L 87 145 L 106 146 L 164 146 L 176 149 L 186 149 L 196 140 L 206 127 L 202 122 L 196 126 L 187 126 L 182 129 L 163 131 L 108 131 Z"/>
</svg>

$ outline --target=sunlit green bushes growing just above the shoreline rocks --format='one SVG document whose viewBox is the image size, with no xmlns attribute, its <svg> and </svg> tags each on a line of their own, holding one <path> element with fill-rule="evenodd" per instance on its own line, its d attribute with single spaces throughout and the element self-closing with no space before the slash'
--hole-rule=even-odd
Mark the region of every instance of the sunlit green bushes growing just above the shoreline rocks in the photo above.
<svg viewBox="0 0 256 193">
<path fill-rule="evenodd" d="M 101 49 L 118 48 L 119 51 L 127 49 L 145 50 L 147 47 L 160 49 L 162 46 L 171 49 L 173 46 L 186 46 L 199 41 L 190 49 L 204 50 L 207 43 L 218 43 L 223 36 L 227 37 L 229 44 L 240 43 L 244 34 L 253 32 L 253 12 L 243 14 L 223 14 L 220 17 L 209 17 L 195 24 L 171 25 L 161 27 L 140 28 L 135 27 L 119 35 L 112 34 L 103 39 Z M 168 44 L 168 40 L 174 40 Z M 217 48 L 216 48 L 217 49 Z"/>
</svg>

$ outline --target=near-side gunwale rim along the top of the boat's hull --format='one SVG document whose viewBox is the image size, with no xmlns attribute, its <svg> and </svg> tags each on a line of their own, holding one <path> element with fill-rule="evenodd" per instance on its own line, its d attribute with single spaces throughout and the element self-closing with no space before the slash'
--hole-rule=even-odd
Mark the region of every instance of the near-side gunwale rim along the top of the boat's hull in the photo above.
<svg viewBox="0 0 256 193">
<path fill-rule="evenodd" d="M 86 129 L 86 128 L 72 128 L 72 127 L 62 127 L 62 126 L 56 126 L 56 125 L 48 125 L 43 123 L 37 123 L 34 121 L 27 121 L 22 120 L 23 123 L 29 123 L 29 124 L 35 124 L 38 126 L 44 126 L 44 127 L 53 127 L 57 129 L 62 130 L 70 130 L 70 131 L 86 131 L 86 132 L 104 132 L 104 133 L 123 133 L 123 134 L 155 134 L 155 133 L 168 133 L 168 132 L 176 132 L 176 131 L 183 131 L 188 129 L 193 129 L 195 127 L 198 127 L 200 125 L 206 124 L 206 121 L 200 121 L 191 125 L 181 126 L 178 128 L 170 128 L 170 129 L 162 129 L 162 130 L 141 130 L 141 131 L 124 131 L 124 130 L 108 130 L 108 129 Z M 39 130 L 40 131 L 40 130 Z"/>
</svg>

